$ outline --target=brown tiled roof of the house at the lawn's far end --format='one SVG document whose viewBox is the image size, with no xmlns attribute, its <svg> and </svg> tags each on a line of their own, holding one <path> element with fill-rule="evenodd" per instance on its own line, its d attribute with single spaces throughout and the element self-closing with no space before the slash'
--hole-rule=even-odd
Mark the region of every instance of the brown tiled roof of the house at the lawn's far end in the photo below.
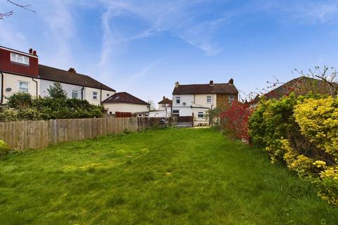
<svg viewBox="0 0 338 225">
<path fill-rule="evenodd" d="M 184 84 L 175 87 L 173 94 L 238 94 L 233 84 Z"/>
</svg>

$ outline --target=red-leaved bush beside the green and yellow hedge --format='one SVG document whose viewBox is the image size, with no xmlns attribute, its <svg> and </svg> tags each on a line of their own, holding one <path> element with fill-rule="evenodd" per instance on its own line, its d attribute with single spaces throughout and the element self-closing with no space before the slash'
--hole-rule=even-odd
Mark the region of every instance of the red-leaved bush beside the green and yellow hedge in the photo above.
<svg viewBox="0 0 338 225">
<path fill-rule="evenodd" d="M 220 113 L 220 118 L 225 120 L 225 128 L 235 138 L 249 141 L 248 120 L 251 113 L 249 105 L 233 101 L 224 113 Z"/>
</svg>

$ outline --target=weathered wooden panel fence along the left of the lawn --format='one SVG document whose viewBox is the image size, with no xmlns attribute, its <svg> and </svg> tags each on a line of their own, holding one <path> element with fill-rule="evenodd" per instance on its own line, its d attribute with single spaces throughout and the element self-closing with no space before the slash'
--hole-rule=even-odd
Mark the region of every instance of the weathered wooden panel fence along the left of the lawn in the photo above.
<svg viewBox="0 0 338 225">
<path fill-rule="evenodd" d="M 49 144 L 79 141 L 106 134 L 154 127 L 152 118 L 89 118 L 0 122 L 0 140 L 13 149 L 45 148 Z"/>
</svg>

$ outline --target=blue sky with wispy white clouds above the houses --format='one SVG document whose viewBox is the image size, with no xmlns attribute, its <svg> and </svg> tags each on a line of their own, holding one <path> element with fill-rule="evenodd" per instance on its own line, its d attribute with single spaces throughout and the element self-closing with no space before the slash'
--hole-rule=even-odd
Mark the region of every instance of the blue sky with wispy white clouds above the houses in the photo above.
<svg viewBox="0 0 338 225">
<path fill-rule="evenodd" d="M 234 84 L 240 94 L 294 69 L 337 68 L 337 0 L 0 1 L 0 45 L 39 63 L 157 103 L 180 84 Z"/>
</svg>

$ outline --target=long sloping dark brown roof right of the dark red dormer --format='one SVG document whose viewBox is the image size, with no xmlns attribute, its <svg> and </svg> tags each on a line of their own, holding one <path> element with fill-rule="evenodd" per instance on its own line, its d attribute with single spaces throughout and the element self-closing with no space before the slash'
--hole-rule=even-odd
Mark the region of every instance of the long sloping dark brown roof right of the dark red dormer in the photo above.
<svg viewBox="0 0 338 225">
<path fill-rule="evenodd" d="M 66 84 L 75 84 L 79 86 L 88 86 L 94 89 L 103 89 L 106 91 L 115 91 L 109 86 L 98 82 L 96 79 L 87 75 L 81 75 L 77 72 L 68 72 L 57 68 L 51 68 L 46 65 L 39 65 L 39 78 L 48 79 L 54 82 L 61 82 Z"/>
</svg>

